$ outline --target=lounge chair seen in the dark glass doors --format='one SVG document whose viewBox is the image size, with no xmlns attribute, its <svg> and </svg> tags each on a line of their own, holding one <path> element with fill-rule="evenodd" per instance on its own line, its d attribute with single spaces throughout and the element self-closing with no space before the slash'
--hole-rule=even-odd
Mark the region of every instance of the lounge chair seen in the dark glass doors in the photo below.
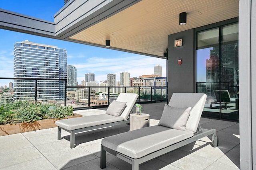
<svg viewBox="0 0 256 170">
<path fill-rule="evenodd" d="M 220 104 L 224 105 L 224 108 L 227 109 L 227 104 L 236 102 L 235 98 L 230 98 L 228 90 L 213 90 L 213 93 L 215 95 L 216 101 L 211 102 L 210 108 L 212 108 L 212 104 Z"/>
</svg>

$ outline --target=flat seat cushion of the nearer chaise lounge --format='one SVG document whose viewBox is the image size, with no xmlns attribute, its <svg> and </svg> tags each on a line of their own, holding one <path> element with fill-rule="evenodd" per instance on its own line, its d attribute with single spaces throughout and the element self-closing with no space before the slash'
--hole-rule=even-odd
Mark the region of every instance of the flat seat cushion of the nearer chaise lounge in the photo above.
<svg viewBox="0 0 256 170">
<path fill-rule="evenodd" d="M 106 137 L 102 139 L 102 145 L 137 159 L 193 135 L 192 131 L 180 131 L 156 125 Z"/>
</svg>

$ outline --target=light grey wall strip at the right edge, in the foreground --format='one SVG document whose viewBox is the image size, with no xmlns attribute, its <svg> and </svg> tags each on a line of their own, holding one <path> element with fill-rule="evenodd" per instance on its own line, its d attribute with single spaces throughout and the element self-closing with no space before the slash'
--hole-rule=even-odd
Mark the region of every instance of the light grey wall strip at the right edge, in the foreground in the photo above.
<svg viewBox="0 0 256 170">
<path fill-rule="evenodd" d="M 256 1 L 239 1 L 240 168 L 256 169 Z"/>
</svg>

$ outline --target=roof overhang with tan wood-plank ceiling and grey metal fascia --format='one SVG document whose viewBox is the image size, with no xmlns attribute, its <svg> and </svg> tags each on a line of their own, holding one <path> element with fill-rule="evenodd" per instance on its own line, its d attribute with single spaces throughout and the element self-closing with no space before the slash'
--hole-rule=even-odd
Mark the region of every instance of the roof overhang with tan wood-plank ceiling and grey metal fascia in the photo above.
<svg viewBox="0 0 256 170">
<path fill-rule="evenodd" d="M 22 16 L 26 24 L 17 26 L 1 17 L 0 28 L 97 47 L 109 39 L 110 49 L 163 58 L 168 35 L 236 18 L 238 6 L 238 0 L 70 0 L 54 23 Z M 179 25 L 181 12 L 187 13 L 186 25 Z"/>
</svg>

